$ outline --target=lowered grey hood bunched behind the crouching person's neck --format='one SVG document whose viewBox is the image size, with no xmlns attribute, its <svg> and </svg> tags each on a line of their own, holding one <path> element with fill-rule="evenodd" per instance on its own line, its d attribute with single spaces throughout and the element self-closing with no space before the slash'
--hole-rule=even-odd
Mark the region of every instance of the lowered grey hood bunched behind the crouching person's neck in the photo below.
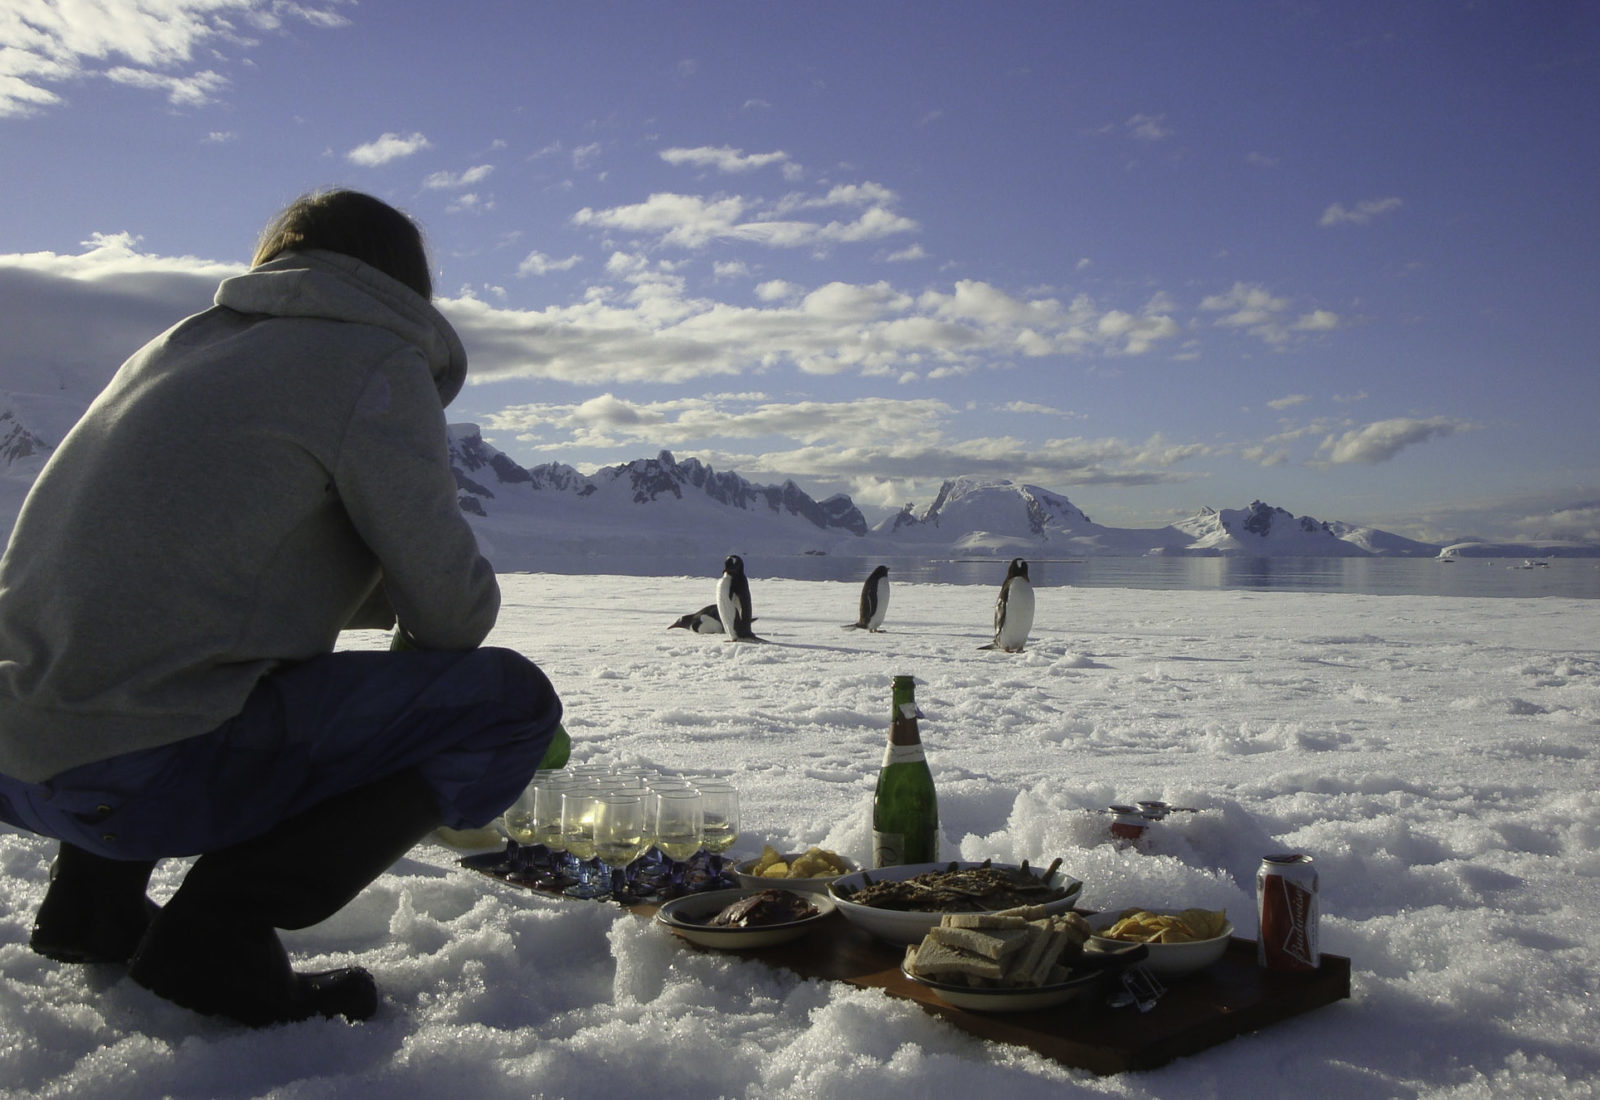
<svg viewBox="0 0 1600 1100">
<path fill-rule="evenodd" d="M 222 280 L 216 304 L 240 313 L 376 325 L 414 344 L 450 405 L 467 381 L 467 352 L 434 304 L 376 267 L 341 253 L 285 253 Z"/>
</svg>

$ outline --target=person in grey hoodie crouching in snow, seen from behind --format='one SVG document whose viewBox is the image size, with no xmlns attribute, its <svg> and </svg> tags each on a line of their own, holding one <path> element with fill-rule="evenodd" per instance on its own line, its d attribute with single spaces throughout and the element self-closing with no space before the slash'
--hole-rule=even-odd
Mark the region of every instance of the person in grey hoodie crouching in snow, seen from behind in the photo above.
<svg viewBox="0 0 1600 1100">
<path fill-rule="evenodd" d="M 366 1018 L 373 977 L 296 974 L 277 929 L 491 820 L 557 739 L 544 673 L 480 648 L 499 587 L 443 414 L 467 360 L 430 299 L 405 214 L 307 195 L 38 475 L 0 560 L 0 819 L 61 841 L 35 951 L 253 1026 Z M 403 651 L 334 652 L 395 622 Z"/>
</svg>

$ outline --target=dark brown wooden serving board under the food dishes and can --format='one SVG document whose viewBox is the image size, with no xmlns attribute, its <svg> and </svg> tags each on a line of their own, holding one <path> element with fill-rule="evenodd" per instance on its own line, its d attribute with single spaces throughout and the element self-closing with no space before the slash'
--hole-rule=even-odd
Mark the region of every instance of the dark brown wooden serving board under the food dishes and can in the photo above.
<svg viewBox="0 0 1600 1100">
<path fill-rule="evenodd" d="M 485 868 L 475 870 L 506 881 Z M 654 905 L 629 908 L 640 916 L 656 913 Z M 706 950 L 688 942 L 683 947 Z M 1166 982 L 1166 991 L 1149 1012 L 1109 1009 L 1099 1001 L 1030 1012 L 958 1009 L 901 974 L 906 948 L 878 940 L 838 913 L 818 921 L 798 940 L 739 955 L 806 978 L 883 990 L 979 1038 L 1024 1046 L 1098 1074 L 1154 1070 L 1350 996 L 1350 959 L 1323 955 L 1322 967 L 1310 974 L 1264 970 L 1256 966 L 1256 942 L 1242 939 L 1230 940 L 1222 958 L 1205 970 Z"/>
</svg>

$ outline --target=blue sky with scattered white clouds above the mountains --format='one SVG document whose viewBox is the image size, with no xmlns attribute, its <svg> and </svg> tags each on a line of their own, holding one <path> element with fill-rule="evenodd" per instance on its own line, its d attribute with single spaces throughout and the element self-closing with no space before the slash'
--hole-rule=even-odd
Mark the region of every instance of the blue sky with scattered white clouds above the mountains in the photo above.
<svg viewBox="0 0 1600 1100">
<path fill-rule="evenodd" d="M 0 366 L 120 360 L 347 185 L 525 465 L 1600 537 L 1595 3 L 21 0 L 0 46 Z"/>
</svg>

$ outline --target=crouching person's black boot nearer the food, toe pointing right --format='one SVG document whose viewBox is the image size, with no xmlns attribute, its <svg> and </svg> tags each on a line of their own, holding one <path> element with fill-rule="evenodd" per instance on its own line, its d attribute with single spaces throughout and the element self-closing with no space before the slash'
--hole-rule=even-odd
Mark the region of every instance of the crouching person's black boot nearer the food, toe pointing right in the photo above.
<svg viewBox="0 0 1600 1100">
<path fill-rule="evenodd" d="M 296 974 L 275 929 L 333 916 L 438 825 L 432 788 L 405 771 L 208 852 L 150 921 L 128 977 L 248 1026 L 314 1015 L 365 1020 L 378 1010 L 371 974 Z"/>
</svg>

